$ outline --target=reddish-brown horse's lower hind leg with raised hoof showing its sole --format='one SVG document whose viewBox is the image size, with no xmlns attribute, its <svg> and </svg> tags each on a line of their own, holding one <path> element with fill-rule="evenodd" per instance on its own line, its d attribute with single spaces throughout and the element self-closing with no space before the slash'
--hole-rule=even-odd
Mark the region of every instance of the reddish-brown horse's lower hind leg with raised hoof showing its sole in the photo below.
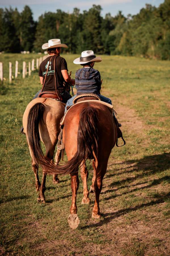
<svg viewBox="0 0 170 256">
<path fill-rule="evenodd" d="M 72 187 L 72 205 L 70 207 L 70 215 L 68 216 L 68 224 L 70 228 L 77 228 L 80 220 L 77 215 L 77 205 L 76 205 L 76 198 L 77 198 L 77 190 L 79 188 L 79 176 L 78 171 L 77 175 L 71 175 L 71 187 Z"/>
</svg>

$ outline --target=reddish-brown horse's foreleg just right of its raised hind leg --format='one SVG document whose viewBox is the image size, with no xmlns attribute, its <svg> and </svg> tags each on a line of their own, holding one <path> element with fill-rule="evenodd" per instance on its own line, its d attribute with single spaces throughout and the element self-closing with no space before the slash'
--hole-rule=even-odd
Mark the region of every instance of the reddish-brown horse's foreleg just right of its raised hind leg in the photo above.
<svg viewBox="0 0 170 256">
<path fill-rule="evenodd" d="M 80 167 L 80 170 L 81 170 L 81 179 L 83 181 L 83 199 L 81 201 L 81 204 L 82 205 L 89 205 L 90 204 L 90 198 L 89 198 L 89 190 L 87 188 L 87 179 L 88 179 L 88 176 L 89 176 L 89 172 L 87 170 L 87 166 L 86 166 L 86 163 L 81 163 L 81 167 Z"/>
</svg>

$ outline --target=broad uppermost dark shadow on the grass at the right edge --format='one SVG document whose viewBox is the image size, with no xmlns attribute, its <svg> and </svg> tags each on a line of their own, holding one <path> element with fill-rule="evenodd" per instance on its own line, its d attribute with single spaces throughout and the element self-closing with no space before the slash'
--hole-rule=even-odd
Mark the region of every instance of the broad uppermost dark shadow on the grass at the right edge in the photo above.
<svg viewBox="0 0 170 256">
<path fill-rule="evenodd" d="M 163 153 L 159 155 L 145 156 L 140 160 L 128 160 L 123 162 L 124 164 L 133 164 L 133 171 L 142 171 L 142 174 L 137 174 L 135 177 L 128 177 L 127 179 L 122 179 L 120 181 L 112 182 L 109 186 L 113 187 L 115 185 L 121 185 L 126 182 L 132 182 L 135 179 L 142 178 L 143 176 L 150 176 L 152 174 L 157 174 L 163 172 L 170 168 L 170 154 Z M 125 172 L 126 173 L 126 172 Z"/>
</svg>

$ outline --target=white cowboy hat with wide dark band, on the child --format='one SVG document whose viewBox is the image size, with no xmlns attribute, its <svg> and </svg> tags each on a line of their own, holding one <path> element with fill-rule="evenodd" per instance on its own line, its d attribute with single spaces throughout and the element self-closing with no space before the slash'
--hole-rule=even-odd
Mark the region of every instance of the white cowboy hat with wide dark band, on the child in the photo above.
<svg viewBox="0 0 170 256">
<path fill-rule="evenodd" d="M 85 64 L 91 61 L 100 62 L 102 61 L 101 57 L 96 57 L 93 51 L 83 51 L 81 56 L 73 61 L 74 64 Z"/>
</svg>

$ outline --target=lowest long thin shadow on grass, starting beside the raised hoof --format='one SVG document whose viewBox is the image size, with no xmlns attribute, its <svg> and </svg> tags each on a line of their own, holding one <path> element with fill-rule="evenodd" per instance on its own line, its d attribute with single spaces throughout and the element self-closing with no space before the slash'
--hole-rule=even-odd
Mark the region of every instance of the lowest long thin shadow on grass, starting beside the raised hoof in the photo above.
<svg viewBox="0 0 170 256">
<path fill-rule="evenodd" d="M 137 206 L 132 207 L 132 208 L 126 208 L 126 209 L 123 209 L 123 210 L 118 210 L 117 212 L 109 212 L 109 213 L 102 214 L 102 216 L 104 217 L 104 220 L 100 220 L 98 223 L 95 223 L 95 224 L 86 225 L 86 226 L 82 227 L 81 229 L 102 226 L 103 224 L 107 224 L 111 220 L 113 220 L 115 218 L 118 218 L 122 215 L 125 215 L 128 212 L 136 211 L 136 210 L 139 210 L 143 207 L 148 207 L 148 206 L 151 206 L 151 205 L 157 205 L 157 204 L 164 203 L 166 197 L 169 197 L 169 196 L 170 196 L 170 193 L 168 193 L 165 196 L 160 196 L 160 199 L 158 199 L 156 201 L 151 201 L 149 203 L 143 203 L 141 205 L 137 205 Z"/>
</svg>

